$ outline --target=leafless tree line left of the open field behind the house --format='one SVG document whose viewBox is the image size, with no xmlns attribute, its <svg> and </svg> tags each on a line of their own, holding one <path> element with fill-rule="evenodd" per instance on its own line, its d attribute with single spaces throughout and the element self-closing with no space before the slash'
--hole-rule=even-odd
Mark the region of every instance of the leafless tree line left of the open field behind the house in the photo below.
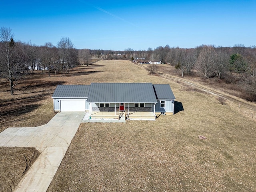
<svg viewBox="0 0 256 192">
<path fill-rule="evenodd" d="M 69 73 L 70 68 L 80 62 L 88 65 L 90 51 L 76 50 L 68 37 L 62 37 L 56 46 L 46 42 L 43 46 L 36 46 L 32 42 L 14 40 L 10 28 L 0 28 L 0 78 L 10 82 L 10 94 L 14 94 L 14 86 L 24 73 L 30 70 L 47 70 L 55 74 Z"/>
</svg>

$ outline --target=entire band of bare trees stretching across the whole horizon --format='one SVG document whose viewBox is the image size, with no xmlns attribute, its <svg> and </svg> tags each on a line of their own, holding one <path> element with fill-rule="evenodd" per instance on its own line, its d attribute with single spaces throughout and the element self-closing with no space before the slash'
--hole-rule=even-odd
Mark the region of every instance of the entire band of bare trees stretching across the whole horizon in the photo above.
<svg viewBox="0 0 256 192">
<path fill-rule="evenodd" d="M 236 44 L 233 47 L 201 45 L 196 48 L 171 48 L 166 45 L 154 50 L 77 50 L 68 37 L 62 37 L 56 46 L 51 42 L 36 46 L 31 41 L 15 41 L 10 28 L 0 28 L 0 77 L 10 82 L 11 94 L 25 71 L 30 70 L 33 75 L 35 68 L 40 67 L 48 71 L 48 76 L 51 72 L 69 73 L 70 68 L 78 64 L 88 66 L 90 58 L 144 63 L 161 61 L 175 66 L 182 77 L 196 71 L 203 79 L 216 77 L 227 83 L 243 84 L 256 96 L 256 46 L 248 48 Z"/>
</svg>

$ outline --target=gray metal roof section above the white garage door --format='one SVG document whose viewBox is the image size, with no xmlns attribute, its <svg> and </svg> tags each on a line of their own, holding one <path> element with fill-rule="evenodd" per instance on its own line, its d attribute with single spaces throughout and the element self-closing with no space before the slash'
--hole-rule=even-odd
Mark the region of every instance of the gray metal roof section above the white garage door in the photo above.
<svg viewBox="0 0 256 192">
<path fill-rule="evenodd" d="M 88 97 L 90 85 L 58 85 L 52 98 Z"/>
</svg>

